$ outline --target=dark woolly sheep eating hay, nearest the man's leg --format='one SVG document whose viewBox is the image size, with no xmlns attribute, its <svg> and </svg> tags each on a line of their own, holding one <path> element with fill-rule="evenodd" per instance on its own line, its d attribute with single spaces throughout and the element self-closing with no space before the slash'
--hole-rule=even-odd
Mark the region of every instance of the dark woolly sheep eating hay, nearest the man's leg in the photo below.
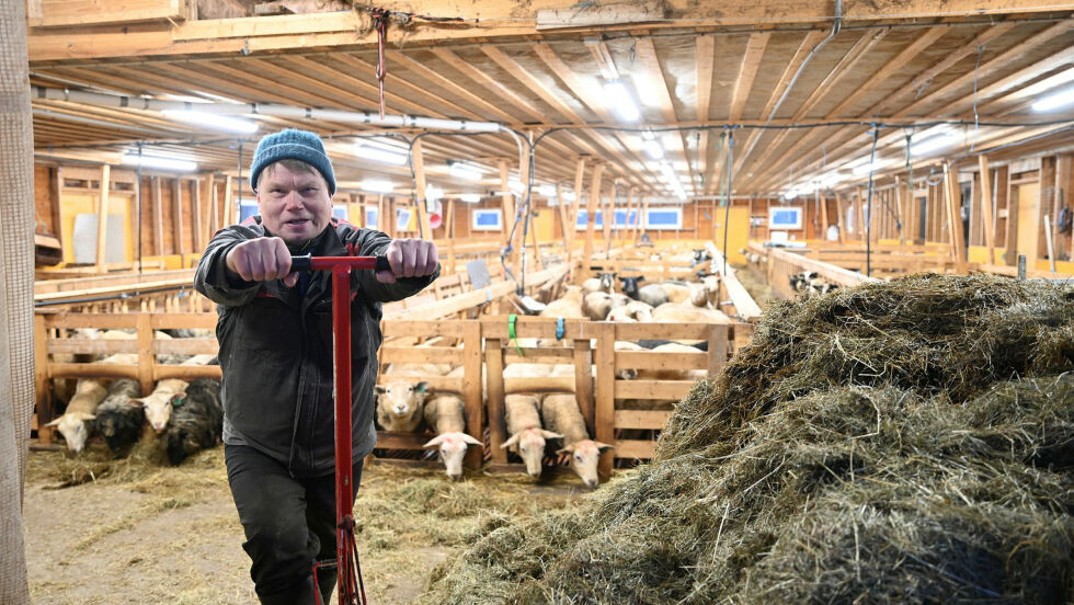
<svg viewBox="0 0 1074 605">
<path fill-rule="evenodd" d="M 168 461 L 178 466 L 191 455 L 214 447 L 224 432 L 220 381 L 195 378 L 172 400 L 175 411 L 164 431 Z"/>
</svg>

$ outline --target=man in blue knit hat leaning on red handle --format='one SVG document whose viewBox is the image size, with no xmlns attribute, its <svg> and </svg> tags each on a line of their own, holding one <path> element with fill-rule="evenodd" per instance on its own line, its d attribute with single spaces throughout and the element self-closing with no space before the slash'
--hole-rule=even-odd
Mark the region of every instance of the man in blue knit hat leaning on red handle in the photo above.
<svg viewBox="0 0 1074 605">
<path fill-rule="evenodd" d="M 292 273 L 292 255 L 385 254 L 391 266 L 351 276 L 352 498 L 376 442 L 380 304 L 418 293 L 439 265 L 430 241 L 332 218 L 335 176 L 312 133 L 264 137 L 250 183 L 260 215 L 216 233 L 194 284 L 218 304 L 224 450 L 250 575 L 261 603 L 308 605 L 315 560 L 335 557 L 332 287 L 330 272 Z M 335 580 L 317 572 L 321 603 Z"/>
</svg>

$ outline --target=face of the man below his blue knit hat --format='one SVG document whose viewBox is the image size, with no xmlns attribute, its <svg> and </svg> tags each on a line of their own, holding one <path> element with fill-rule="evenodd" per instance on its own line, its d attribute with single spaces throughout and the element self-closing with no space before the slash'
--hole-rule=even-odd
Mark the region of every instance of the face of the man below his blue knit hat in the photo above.
<svg viewBox="0 0 1074 605">
<path fill-rule="evenodd" d="M 301 246 L 324 230 L 332 217 L 332 197 L 316 169 L 267 167 L 258 186 L 258 209 L 265 227 L 292 246 Z"/>
</svg>

